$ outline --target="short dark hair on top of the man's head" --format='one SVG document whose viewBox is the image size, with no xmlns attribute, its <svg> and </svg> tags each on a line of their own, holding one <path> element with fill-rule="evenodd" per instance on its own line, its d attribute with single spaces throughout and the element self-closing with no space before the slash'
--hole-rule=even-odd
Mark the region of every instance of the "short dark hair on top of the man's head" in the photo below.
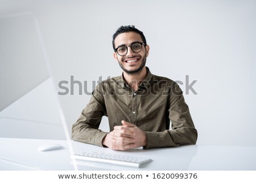
<svg viewBox="0 0 256 182">
<path fill-rule="evenodd" d="M 145 38 L 143 32 L 138 30 L 137 28 L 135 28 L 134 25 L 129 25 L 129 26 L 121 26 L 121 27 L 119 27 L 117 29 L 117 31 L 114 33 L 113 40 L 112 40 L 113 49 L 115 49 L 115 44 L 114 44 L 115 38 L 119 34 L 122 34 L 122 33 L 125 33 L 125 32 L 136 32 L 137 34 L 141 35 L 142 42 L 147 45 L 146 38 Z"/>
</svg>

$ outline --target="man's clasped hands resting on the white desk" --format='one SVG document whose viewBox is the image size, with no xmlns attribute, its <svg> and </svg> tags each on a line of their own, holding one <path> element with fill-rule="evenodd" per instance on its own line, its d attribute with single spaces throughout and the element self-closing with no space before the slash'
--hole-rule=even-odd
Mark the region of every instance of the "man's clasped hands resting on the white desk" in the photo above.
<svg viewBox="0 0 256 182">
<path fill-rule="evenodd" d="M 147 146 L 146 134 L 137 126 L 122 121 L 122 126 L 115 126 L 102 140 L 102 144 L 112 150 L 127 150 Z"/>
</svg>

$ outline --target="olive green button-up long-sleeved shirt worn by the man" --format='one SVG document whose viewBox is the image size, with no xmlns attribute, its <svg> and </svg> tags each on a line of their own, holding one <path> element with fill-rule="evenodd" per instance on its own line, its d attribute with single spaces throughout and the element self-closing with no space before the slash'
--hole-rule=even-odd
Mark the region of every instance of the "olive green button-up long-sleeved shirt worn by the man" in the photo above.
<svg viewBox="0 0 256 182">
<path fill-rule="evenodd" d="M 72 126 L 72 139 L 102 146 L 108 134 L 98 130 L 104 115 L 109 119 L 110 131 L 122 125 L 122 120 L 138 126 L 147 137 L 145 149 L 195 144 L 197 140 L 197 130 L 179 85 L 152 75 L 148 68 L 137 91 L 129 87 L 123 75 L 98 84 Z"/>
</svg>

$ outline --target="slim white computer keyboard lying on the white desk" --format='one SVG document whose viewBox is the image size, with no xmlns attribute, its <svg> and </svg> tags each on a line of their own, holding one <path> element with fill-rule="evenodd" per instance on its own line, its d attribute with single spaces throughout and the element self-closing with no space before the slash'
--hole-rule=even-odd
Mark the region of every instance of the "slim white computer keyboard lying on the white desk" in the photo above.
<svg viewBox="0 0 256 182">
<path fill-rule="evenodd" d="M 149 158 L 130 155 L 108 154 L 104 152 L 83 152 L 81 154 L 72 155 L 71 158 L 76 160 L 85 160 L 88 162 L 107 163 L 129 167 L 140 167 L 141 164 L 152 161 Z"/>
</svg>

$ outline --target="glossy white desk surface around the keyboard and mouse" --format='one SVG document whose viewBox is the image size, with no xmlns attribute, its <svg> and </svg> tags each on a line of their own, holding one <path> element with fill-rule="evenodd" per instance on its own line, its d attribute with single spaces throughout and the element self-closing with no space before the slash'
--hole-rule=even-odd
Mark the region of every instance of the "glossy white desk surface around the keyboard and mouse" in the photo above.
<svg viewBox="0 0 256 182">
<path fill-rule="evenodd" d="M 39 152 L 43 144 L 57 143 L 61 150 Z M 66 140 L 0 138 L 1 170 L 74 170 Z M 179 146 L 113 151 L 72 141 L 76 152 L 101 151 L 111 154 L 146 156 L 153 161 L 141 168 L 79 162 L 79 170 L 256 170 L 256 147 Z"/>
</svg>

